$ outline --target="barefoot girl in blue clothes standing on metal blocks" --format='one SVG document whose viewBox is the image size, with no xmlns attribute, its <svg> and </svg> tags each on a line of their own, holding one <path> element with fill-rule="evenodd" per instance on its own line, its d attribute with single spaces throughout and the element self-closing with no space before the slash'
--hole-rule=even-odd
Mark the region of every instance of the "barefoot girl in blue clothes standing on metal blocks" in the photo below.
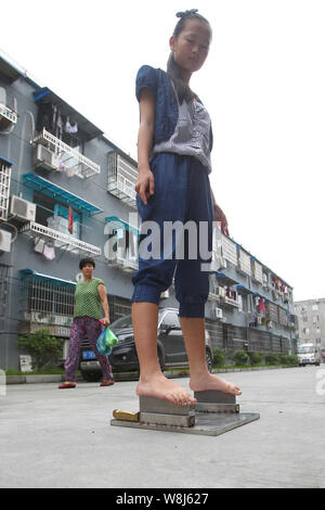
<svg viewBox="0 0 325 510">
<path fill-rule="evenodd" d="M 209 280 L 208 272 L 202 270 L 202 258 L 198 255 L 193 259 L 188 254 L 179 260 L 166 257 L 176 253 L 176 243 L 164 239 L 167 221 L 179 220 L 184 225 L 191 220 L 197 226 L 206 222 L 210 252 L 213 219 L 220 221 L 222 232 L 229 234 L 226 218 L 216 204 L 208 177 L 212 148 L 210 118 L 188 86 L 192 73 L 200 69 L 208 55 L 211 27 L 197 10 L 177 16 L 180 21 L 169 41 L 167 73 L 142 66 L 136 76 L 141 116 L 136 203 L 142 221 L 159 225 L 160 239 L 156 242 L 160 242 L 160 257 L 141 256 L 140 243 L 139 270 L 132 278 L 132 321 L 140 362 L 136 394 L 191 405 L 196 399 L 166 379 L 157 360 L 159 296 L 170 286 L 173 276 L 190 362 L 191 390 L 218 390 L 234 395 L 242 392 L 210 374 L 206 366 L 204 317 Z M 142 234 L 142 240 L 145 239 L 147 235 Z"/>
</svg>

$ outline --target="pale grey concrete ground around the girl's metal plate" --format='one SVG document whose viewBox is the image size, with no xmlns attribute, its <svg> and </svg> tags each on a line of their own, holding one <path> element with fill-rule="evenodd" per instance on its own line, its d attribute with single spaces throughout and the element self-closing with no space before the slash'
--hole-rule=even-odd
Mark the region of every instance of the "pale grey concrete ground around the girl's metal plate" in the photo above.
<svg viewBox="0 0 325 510">
<path fill-rule="evenodd" d="M 0 487 L 325 487 L 325 367 L 224 377 L 261 418 L 216 437 L 112 426 L 136 382 L 6 386 Z"/>
</svg>

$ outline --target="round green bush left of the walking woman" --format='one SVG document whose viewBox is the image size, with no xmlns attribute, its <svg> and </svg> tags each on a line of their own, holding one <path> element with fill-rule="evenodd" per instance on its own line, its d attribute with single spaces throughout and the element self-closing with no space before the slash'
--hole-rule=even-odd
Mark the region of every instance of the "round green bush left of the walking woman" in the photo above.
<svg viewBox="0 0 325 510">
<path fill-rule="evenodd" d="M 50 336 L 50 331 L 43 328 L 20 336 L 17 347 L 27 350 L 36 362 L 36 370 L 41 370 L 46 366 L 54 367 L 62 358 L 63 340 Z"/>
</svg>

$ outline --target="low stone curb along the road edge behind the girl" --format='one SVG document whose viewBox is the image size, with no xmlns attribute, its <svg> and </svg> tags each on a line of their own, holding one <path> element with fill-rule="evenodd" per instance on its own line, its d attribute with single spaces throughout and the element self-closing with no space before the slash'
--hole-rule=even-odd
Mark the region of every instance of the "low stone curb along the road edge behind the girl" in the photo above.
<svg viewBox="0 0 325 510">
<path fill-rule="evenodd" d="M 214 369 L 212 373 L 226 373 L 226 372 L 247 372 L 253 370 L 278 370 L 283 368 L 297 368 L 286 367 L 286 366 L 278 366 L 278 367 L 250 367 L 250 368 L 226 368 L 226 369 Z M 190 373 L 184 370 L 180 370 L 179 372 L 164 372 L 165 377 L 168 379 L 179 379 L 179 378 L 188 378 Z M 5 384 L 37 384 L 37 383 L 51 383 L 51 382 L 62 382 L 65 378 L 62 374 L 44 374 L 44 375 L 6 375 Z M 121 381 L 138 381 L 139 373 L 116 373 L 114 375 L 114 380 L 116 382 Z M 81 375 L 77 377 L 77 381 L 83 381 Z"/>
</svg>

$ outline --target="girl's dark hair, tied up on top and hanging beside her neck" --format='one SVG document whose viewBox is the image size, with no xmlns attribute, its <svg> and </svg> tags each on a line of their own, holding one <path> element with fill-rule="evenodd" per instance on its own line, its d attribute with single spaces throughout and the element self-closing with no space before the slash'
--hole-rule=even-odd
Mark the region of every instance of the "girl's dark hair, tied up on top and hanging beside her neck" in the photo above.
<svg viewBox="0 0 325 510">
<path fill-rule="evenodd" d="M 174 30 L 172 34 L 176 39 L 184 29 L 186 20 L 193 20 L 193 18 L 200 20 L 202 22 L 205 22 L 210 26 L 208 20 L 206 20 L 200 14 L 198 14 L 197 9 L 191 9 L 191 11 L 185 11 L 185 12 L 178 12 L 177 17 L 179 17 L 180 20 L 177 26 L 174 27 Z M 193 101 L 193 99 L 197 99 L 196 93 L 193 92 L 193 90 L 191 90 L 188 85 L 185 84 L 185 81 L 182 79 L 181 69 L 173 58 L 172 51 L 170 52 L 170 55 L 167 62 L 167 74 L 169 75 L 170 79 L 172 80 L 174 85 L 180 103 L 182 103 L 183 100 L 185 100 L 186 103 L 190 103 L 191 101 Z"/>
</svg>

